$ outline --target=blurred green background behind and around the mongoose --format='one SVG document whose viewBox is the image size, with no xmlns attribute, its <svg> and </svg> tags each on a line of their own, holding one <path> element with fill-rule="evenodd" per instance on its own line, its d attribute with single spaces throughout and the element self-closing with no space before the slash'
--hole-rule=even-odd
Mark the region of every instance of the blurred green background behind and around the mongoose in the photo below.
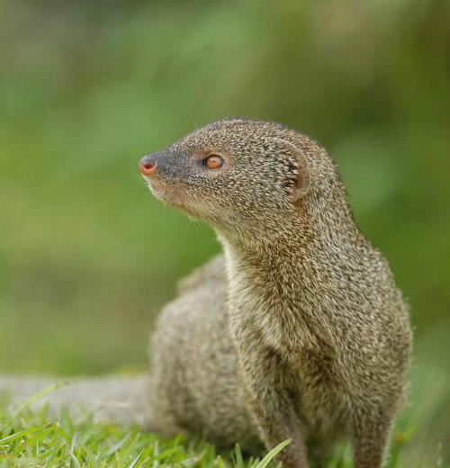
<svg viewBox="0 0 450 468">
<path fill-rule="evenodd" d="M 402 456 L 447 460 L 446 1 L 1 2 L 0 372 L 145 368 L 157 311 L 220 247 L 152 199 L 139 157 L 234 115 L 338 161 L 416 328 Z"/>
</svg>

